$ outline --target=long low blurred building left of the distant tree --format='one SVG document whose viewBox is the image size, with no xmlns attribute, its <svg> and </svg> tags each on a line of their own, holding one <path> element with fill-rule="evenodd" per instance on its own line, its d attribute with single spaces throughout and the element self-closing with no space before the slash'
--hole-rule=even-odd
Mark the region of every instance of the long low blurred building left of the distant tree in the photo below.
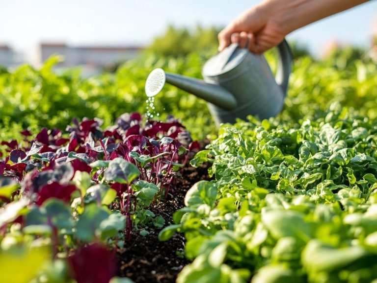
<svg viewBox="0 0 377 283">
<path fill-rule="evenodd" d="M 37 50 L 37 65 L 43 64 L 54 54 L 65 60 L 58 67 L 90 66 L 102 69 L 108 64 L 118 64 L 135 58 L 143 47 L 69 46 L 65 43 L 41 43 Z"/>
</svg>

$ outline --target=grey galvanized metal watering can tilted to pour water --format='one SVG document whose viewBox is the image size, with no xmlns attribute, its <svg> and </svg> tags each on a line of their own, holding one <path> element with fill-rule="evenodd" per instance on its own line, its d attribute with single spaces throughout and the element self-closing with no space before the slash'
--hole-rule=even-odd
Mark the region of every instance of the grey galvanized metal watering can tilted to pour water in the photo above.
<svg viewBox="0 0 377 283">
<path fill-rule="evenodd" d="M 233 43 L 210 58 L 202 69 L 203 80 L 153 70 L 145 83 L 147 96 L 158 94 L 165 82 L 203 98 L 215 123 L 234 123 L 248 115 L 260 119 L 275 117 L 283 108 L 292 70 L 292 53 L 283 40 L 273 76 L 263 55 Z"/>
</svg>

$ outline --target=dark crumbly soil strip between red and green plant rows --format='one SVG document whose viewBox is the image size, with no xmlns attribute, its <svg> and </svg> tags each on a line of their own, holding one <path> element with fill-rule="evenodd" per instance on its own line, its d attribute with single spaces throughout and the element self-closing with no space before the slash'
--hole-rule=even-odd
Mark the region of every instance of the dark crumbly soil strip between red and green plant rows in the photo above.
<svg viewBox="0 0 377 283">
<path fill-rule="evenodd" d="M 186 192 L 200 180 L 210 180 L 208 166 L 186 167 L 182 179 L 177 180 L 174 192 L 165 202 L 152 208 L 156 215 L 162 215 L 167 225 L 173 224 L 172 215 L 184 207 Z M 152 230 L 147 236 L 134 233 L 126 241 L 125 249 L 118 251 L 118 276 L 128 277 L 135 283 L 173 283 L 182 268 L 189 263 L 183 256 L 185 238 L 175 234 L 170 240 L 160 242 L 158 234 L 161 228 Z"/>
</svg>

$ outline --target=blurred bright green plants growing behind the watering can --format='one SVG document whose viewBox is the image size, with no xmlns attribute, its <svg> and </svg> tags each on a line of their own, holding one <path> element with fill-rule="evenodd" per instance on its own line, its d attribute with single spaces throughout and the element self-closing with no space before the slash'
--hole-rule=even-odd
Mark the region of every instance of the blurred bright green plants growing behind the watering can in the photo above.
<svg viewBox="0 0 377 283">
<path fill-rule="evenodd" d="M 14 71 L 0 69 L 0 139 L 22 139 L 19 131 L 28 127 L 65 127 L 73 118 L 101 118 L 110 126 L 123 113 L 145 113 L 145 79 L 155 68 L 201 77 L 201 67 L 208 59 L 198 53 L 187 57 L 162 58 L 145 55 L 122 65 L 116 73 L 83 78 L 79 70 L 54 72 L 60 57 L 51 57 L 40 70 L 28 65 Z M 267 54 L 274 69 L 274 54 Z M 335 59 L 314 61 L 301 57 L 294 62 L 283 121 L 318 118 L 331 103 L 377 117 L 377 66 L 370 60 L 354 60 L 344 52 Z M 156 113 L 184 121 L 196 140 L 217 133 L 204 100 L 166 85 L 154 102 Z"/>
</svg>

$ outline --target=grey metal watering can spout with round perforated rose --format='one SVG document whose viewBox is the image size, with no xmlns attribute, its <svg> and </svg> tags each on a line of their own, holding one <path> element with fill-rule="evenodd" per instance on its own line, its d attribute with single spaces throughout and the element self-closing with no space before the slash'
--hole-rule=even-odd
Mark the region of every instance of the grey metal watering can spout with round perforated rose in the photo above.
<svg viewBox="0 0 377 283">
<path fill-rule="evenodd" d="M 236 98 L 223 87 L 203 80 L 168 73 L 162 69 L 155 69 L 149 74 L 145 83 L 147 96 L 158 94 L 165 82 L 223 109 L 232 110 L 237 107 Z"/>
</svg>

